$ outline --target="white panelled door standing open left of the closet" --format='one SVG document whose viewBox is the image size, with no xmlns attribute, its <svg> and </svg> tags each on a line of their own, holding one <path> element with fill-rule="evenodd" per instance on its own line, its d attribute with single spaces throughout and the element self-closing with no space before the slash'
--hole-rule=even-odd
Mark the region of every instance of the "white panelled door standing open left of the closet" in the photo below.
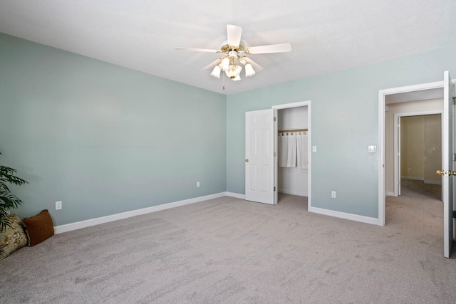
<svg viewBox="0 0 456 304">
<path fill-rule="evenodd" d="M 245 113 L 245 199 L 274 204 L 274 110 Z"/>
</svg>

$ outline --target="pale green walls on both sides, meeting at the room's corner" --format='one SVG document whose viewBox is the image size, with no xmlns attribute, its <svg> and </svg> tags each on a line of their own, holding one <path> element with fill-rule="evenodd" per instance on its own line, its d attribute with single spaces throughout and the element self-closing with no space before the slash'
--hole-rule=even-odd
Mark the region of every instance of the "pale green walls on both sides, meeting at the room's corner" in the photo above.
<svg viewBox="0 0 456 304">
<path fill-rule="evenodd" d="M 379 156 L 367 147 L 379 145 L 378 90 L 456 75 L 455 53 L 224 96 L 0 34 L 0 162 L 30 182 L 14 188 L 17 213 L 46 208 L 56 225 L 244 194 L 244 113 L 311 100 L 312 205 L 376 218 Z"/>
</svg>

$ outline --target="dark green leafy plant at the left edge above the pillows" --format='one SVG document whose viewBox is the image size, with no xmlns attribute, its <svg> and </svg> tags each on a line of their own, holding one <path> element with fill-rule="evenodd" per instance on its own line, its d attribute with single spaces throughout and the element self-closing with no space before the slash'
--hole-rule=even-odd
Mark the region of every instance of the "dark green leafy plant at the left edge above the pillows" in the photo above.
<svg viewBox="0 0 456 304">
<path fill-rule="evenodd" d="M 24 179 L 16 177 L 16 173 L 16 169 L 0 165 L 0 231 L 4 231 L 6 226 L 11 226 L 9 209 L 15 209 L 22 204 L 21 199 L 11 193 L 8 184 L 21 186 L 28 183 Z"/>
</svg>

